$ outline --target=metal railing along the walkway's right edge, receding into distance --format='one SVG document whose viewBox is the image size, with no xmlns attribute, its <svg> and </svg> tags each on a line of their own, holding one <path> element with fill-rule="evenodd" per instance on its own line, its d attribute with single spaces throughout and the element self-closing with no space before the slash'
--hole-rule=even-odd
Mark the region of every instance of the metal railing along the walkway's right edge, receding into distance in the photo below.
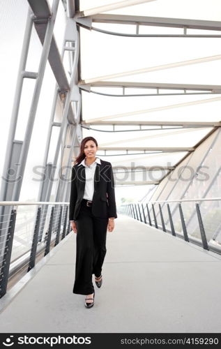
<svg viewBox="0 0 221 349">
<path fill-rule="evenodd" d="M 214 202 L 217 202 L 215 208 Z M 192 203 L 195 203 L 195 207 L 191 207 Z M 213 207 L 211 207 L 211 203 Z M 185 204 L 188 204 L 188 207 L 183 210 Z M 201 214 L 202 209 L 200 209 L 202 204 L 206 205 L 203 208 L 203 215 Z M 215 214 L 213 214 L 214 212 Z M 202 246 L 208 251 L 221 254 L 221 198 L 158 200 L 145 204 L 131 203 L 121 205 L 119 213 L 161 229 L 163 232 L 169 232 L 174 237 L 181 237 L 186 242 Z"/>
</svg>

